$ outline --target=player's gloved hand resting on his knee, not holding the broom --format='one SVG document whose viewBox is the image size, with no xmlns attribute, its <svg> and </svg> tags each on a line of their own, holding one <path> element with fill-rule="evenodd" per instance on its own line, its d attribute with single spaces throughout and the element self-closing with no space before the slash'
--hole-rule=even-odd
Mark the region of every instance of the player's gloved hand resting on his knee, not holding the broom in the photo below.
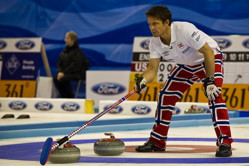
<svg viewBox="0 0 249 166">
<path fill-rule="evenodd" d="M 204 81 L 204 93 L 210 101 L 215 101 L 219 98 L 220 91 L 214 84 L 214 77 L 207 77 Z"/>
</svg>

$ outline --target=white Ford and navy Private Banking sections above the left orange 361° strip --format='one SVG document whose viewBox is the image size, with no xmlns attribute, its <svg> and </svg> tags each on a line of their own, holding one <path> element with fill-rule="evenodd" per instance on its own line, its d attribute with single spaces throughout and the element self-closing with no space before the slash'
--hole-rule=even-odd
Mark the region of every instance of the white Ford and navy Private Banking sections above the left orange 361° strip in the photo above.
<svg viewBox="0 0 249 166">
<path fill-rule="evenodd" d="M 1 80 L 36 80 L 41 38 L 0 38 L 1 42 Z"/>
</svg>

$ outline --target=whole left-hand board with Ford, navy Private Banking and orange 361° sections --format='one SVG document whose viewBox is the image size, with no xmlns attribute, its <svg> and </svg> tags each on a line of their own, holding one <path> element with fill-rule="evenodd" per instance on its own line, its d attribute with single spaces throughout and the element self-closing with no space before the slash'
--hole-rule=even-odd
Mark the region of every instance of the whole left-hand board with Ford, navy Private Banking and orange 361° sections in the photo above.
<svg viewBox="0 0 249 166">
<path fill-rule="evenodd" d="M 35 97 L 41 38 L 0 38 L 0 97 Z"/>
</svg>

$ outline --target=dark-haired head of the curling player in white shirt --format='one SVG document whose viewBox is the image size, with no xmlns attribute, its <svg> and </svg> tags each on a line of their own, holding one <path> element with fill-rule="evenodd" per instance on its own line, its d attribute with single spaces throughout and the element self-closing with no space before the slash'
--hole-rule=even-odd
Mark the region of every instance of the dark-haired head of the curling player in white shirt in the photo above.
<svg viewBox="0 0 249 166">
<path fill-rule="evenodd" d="M 168 34 L 171 25 L 171 12 L 166 6 L 153 6 L 145 13 L 150 31 L 154 37 Z"/>
</svg>

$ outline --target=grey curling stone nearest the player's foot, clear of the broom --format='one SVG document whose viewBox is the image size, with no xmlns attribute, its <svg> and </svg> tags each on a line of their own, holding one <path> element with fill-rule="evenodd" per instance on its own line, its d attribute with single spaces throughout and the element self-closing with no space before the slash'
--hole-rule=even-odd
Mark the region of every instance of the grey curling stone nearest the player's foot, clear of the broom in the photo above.
<svg viewBox="0 0 249 166">
<path fill-rule="evenodd" d="M 125 144 L 120 139 L 116 139 L 112 133 L 109 139 L 99 139 L 94 143 L 94 152 L 100 156 L 117 156 L 124 152 Z"/>
</svg>

